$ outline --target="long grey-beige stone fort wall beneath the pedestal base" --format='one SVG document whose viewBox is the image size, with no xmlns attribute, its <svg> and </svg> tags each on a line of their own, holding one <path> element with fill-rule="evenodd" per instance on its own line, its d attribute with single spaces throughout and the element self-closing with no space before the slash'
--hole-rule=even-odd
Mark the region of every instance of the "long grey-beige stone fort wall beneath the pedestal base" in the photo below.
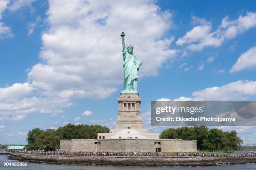
<svg viewBox="0 0 256 170">
<path fill-rule="evenodd" d="M 158 148 L 158 150 L 156 150 Z M 61 140 L 61 151 L 195 152 L 196 140 L 181 139 L 72 139 Z"/>
</svg>

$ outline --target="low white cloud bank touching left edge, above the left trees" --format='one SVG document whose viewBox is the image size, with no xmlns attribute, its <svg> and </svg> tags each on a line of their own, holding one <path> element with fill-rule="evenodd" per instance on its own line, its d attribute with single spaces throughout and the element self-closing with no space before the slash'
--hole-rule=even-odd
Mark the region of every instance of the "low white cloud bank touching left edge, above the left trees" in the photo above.
<svg viewBox="0 0 256 170">
<path fill-rule="evenodd" d="M 36 97 L 35 88 L 29 83 L 15 83 L 0 88 L 0 120 L 23 120 L 27 114 L 62 113 L 61 108 L 69 107 L 69 100 L 58 97 Z"/>
</svg>

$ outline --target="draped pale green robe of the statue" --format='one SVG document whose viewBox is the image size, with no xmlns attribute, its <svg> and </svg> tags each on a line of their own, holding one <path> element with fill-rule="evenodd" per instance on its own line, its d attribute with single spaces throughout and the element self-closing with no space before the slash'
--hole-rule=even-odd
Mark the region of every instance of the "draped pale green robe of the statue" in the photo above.
<svg viewBox="0 0 256 170">
<path fill-rule="evenodd" d="M 123 72 L 124 72 L 124 90 L 137 90 L 138 70 L 142 61 L 136 60 L 133 54 L 127 50 L 123 51 Z"/>
</svg>

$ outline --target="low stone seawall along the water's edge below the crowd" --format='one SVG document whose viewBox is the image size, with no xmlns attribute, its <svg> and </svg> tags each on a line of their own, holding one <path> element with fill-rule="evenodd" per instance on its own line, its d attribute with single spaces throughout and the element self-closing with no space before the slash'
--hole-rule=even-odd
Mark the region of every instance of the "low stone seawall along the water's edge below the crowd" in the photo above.
<svg viewBox="0 0 256 170">
<path fill-rule="evenodd" d="M 115 157 L 115 156 L 70 156 L 70 155 L 30 155 L 12 153 L 10 159 L 31 163 L 113 165 L 113 166 L 216 166 L 256 163 L 254 158 L 214 158 L 214 157 Z"/>
</svg>

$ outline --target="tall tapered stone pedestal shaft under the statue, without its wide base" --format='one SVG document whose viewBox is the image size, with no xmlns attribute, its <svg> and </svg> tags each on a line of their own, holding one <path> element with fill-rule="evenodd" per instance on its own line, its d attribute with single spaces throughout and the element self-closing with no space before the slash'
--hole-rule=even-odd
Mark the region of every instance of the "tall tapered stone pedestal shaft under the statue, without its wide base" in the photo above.
<svg viewBox="0 0 256 170">
<path fill-rule="evenodd" d="M 121 93 L 116 129 L 143 129 L 141 119 L 141 98 L 138 93 Z"/>
</svg>

